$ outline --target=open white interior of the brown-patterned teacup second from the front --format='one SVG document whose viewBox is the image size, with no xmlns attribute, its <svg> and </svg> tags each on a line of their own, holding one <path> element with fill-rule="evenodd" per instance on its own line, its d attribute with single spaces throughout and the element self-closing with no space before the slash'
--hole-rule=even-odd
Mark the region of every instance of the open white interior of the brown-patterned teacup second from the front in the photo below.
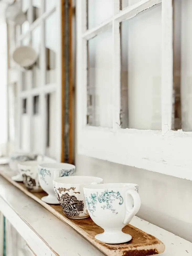
<svg viewBox="0 0 192 256">
<path fill-rule="evenodd" d="M 91 184 L 92 182 L 102 182 L 103 179 L 91 176 L 65 176 L 54 180 L 62 184 Z"/>
</svg>

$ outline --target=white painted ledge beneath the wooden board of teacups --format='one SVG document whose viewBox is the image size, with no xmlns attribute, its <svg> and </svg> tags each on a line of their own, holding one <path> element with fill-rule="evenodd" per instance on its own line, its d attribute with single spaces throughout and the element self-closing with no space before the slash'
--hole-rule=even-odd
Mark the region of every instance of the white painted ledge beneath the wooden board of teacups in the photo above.
<svg viewBox="0 0 192 256">
<path fill-rule="evenodd" d="M 38 256 L 104 255 L 71 227 L 0 176 L 0 211 Z M 165 244 L 162 256 L 192 255 L 192 243 L 134 217 L 133 226 Z"/>
</svg>

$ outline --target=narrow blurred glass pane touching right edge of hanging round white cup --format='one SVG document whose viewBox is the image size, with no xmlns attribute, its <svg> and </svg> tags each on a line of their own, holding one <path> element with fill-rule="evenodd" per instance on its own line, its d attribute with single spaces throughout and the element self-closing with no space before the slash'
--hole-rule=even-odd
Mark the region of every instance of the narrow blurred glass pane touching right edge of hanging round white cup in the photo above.
<svg viewBox="0 0 192 256">
<path fill-rule="evenodd" d="M 32 47 L 38 54 L 38 59 L 33 66 L 33 87 L 41 86 L 41 70 L 40 70 L 40 36 L 41 36 L 41 28 L 37 27 L 32 31 Z"/>
</svg>

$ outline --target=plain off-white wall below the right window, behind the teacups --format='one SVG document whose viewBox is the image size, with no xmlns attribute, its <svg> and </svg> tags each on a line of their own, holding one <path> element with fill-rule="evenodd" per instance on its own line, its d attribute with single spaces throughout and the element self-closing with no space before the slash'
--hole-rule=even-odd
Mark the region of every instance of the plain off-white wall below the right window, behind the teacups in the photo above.
<svg viewBox="0 0 192 256">
<path fill-rule="evenodd" d="M 137 183 L 142 202 L 137 216 L 192 242 L 192 181 L 78 154 L 76 167 L 77 174 L 105 183 Z"/>
</svg>

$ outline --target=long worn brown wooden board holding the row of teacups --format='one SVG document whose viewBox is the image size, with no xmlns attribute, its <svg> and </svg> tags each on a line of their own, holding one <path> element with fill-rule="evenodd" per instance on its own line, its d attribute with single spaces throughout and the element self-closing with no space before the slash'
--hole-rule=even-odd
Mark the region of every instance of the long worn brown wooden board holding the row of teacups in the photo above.
<svg viewBox="0 0 192 256">
<path fill-rule="evenodd" d="M 25 188 L 25 185 L 22 182 L 13 181 L 10 175 L 3 170 L 0 170 L 0 175 L 76 230 L 107 256 L 147 256 L 164 252 L 165 246 L 159 239 L 130 224 L 126 225 L 122 229 L 123 232 L 132 236 L 132 240 L 130 242 L 123 244 L 105 244 L 100 242 L 95 239 L 94 236 L 102 233 L 103 229 L 97 226 L 90 217 L 80 220 L 69 219 L 65 217 L 60 205 L 49 205 L 41 201 L 41 198 L 47 195 L 46 192 L 31 193 Z"/>
</svg>

